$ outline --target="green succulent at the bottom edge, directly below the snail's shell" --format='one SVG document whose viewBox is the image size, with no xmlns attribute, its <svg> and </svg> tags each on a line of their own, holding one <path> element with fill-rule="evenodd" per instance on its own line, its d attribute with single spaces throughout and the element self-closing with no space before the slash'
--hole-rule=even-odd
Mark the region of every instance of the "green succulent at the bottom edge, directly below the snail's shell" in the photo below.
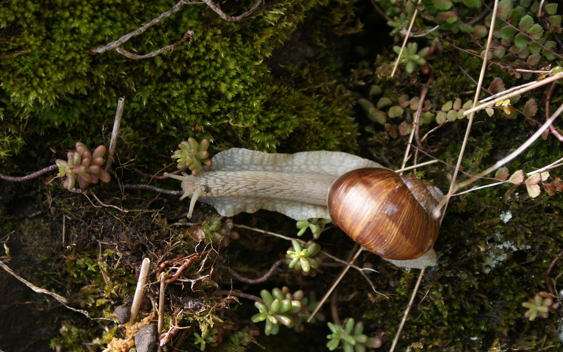
<svg viewBox="0 0 563 352">
<path fill-rule="evenodd" d="M 335 350 L 342 340 L 344 352 L 364 352 L 365 347 L 378 348 L 381 347 L 382 341 L 378 337 L 368 337 L 363 334 L 364 323 L 358 322 L 354 324 L 354 319 L 348 318 L 344 326 L 340 324 L 327 323 L 332 333 L 327 335 L 330 340 L 327 347 L 330 351 Z"/>
</svg>

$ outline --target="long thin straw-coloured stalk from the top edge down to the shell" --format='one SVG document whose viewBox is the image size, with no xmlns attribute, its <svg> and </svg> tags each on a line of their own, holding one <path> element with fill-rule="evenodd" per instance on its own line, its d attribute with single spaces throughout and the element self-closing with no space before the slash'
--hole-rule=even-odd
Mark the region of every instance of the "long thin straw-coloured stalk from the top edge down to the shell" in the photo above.
<svg viewBox="0 0 563 352">
<path fill-rule="evenodd" d="M 483 84 L 483 79 L 485 77 L 485 69 L 486 69 L 486 66 L 487 66 L 487 61 L 489 61 L 489 51 L 490 51 L 491 41 L 493 39 L 493 29 L 494 29 L 495 19 L 497 18 L 497 8 L 498 8 L 498 0 L 495 0 L 494 6 L 493 6 L 493 17 L 491 17 L 491 23 L 490 23 L 490 27 L 489 27 L 489 37 L 487 38 L 487 44 L 485 46 L 485 54 L 483 55 L 483 63 L 481 65 L 481 73 L 479 75 L 479 81 L 477 82 L 477 89 L 475 90 L 475 97 L 473 97 L 473 106 L 474 107 L 475 107 L 475 105 L 477 105 L 477 101 L 479 100 L 479 94 L 481 93 L 481 86 Z M 465 115 L 467 115 L 467 114 L 465 114 Z M 452 194 L 455 191 L 455 180 L 457 179 L 459 167 L 461 166 L 461 161 L 463 159 L 463 153 L 465 152 L 467 140 L 469 139 L 469 132 L 471 131 L 471 124 L 473 123 L 473 117 L 474 116 L 475 116 L 475 112 L 471 113 L 469 115 L 469 117 L 467 118 L 467 128 L 465 130 L 465 136 L 463 137 L 461 150 L 459 150 L 458 161 L 457 161 L 457 164 L 455 164 L 455 170 L 454 170 L 454 174 L 452 176 L 452 182 L 450 183 L 450 189 L 448 190 L 448 194 L 446 194 L 446 196 L 444 197 L 442 202 L 440 202 L 440 204 L 443 205 L 443 209 L 440 212 L 442 207 L 439 205 L 439 206 L 436 207 L 436 209 L 434 211 L 434 216 L 436 216 L 436 219 L 438 217 L 440 217 L 440 224 L 441 224 L 442 220 L 444 220 L 444 215 L 446 213 L 446 208 L 448 207 L 448 202 L 450 200 L 450 197 L 452 197 Z"/>
</svg>

